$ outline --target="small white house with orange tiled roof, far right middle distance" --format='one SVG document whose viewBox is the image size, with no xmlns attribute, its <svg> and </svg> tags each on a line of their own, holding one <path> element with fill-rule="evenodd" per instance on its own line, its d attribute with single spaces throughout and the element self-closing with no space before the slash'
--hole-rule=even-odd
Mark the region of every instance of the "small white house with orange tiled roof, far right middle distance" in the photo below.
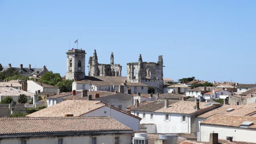
<svg viewBox="0 0 256 144">
<path fill-rule="evenodd" d="M 213 89 L 210 92 L 206 92 L 203 95 L 204 99 L 225 99 L 227 98 L 229 95 L 231 94 L 231 92 L 228 92 L 226 90 L 223 89 Z"/>
</svg>

